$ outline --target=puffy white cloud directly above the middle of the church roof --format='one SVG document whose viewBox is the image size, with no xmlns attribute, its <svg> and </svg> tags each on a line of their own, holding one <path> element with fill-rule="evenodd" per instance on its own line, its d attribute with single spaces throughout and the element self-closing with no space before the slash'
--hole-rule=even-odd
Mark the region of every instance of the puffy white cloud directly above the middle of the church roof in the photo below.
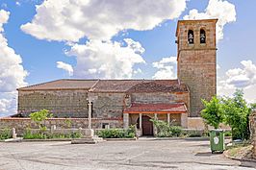
<svg viewBox="0 0 256 170">
<path fill-rule="evenodd" d="M 145 62 L 141 57 L 144 49 L 130 38 L 124 39 L 124 42 L 126 44 L 94 39 L 86 44 L 73 45 L 66 55 L 77 58 L 74 77 L 131 78 L 135 74 L 134 65 Z"/>
</svg>

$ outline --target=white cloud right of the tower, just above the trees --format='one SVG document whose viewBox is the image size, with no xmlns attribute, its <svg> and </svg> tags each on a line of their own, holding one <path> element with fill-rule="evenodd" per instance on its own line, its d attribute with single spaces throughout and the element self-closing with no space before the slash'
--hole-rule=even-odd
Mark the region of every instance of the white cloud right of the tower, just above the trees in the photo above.
<svg viewBox="0 0 256 170">
<path fill-rule="evenodd" d="M 241 61 L 243 68 L 226 71 L 218 78 L 218 95 L 232 95 L 236 88 L 242 88 L 249 102 L 256 102 L 256 65 L 252 61 Z"/>
</svg>

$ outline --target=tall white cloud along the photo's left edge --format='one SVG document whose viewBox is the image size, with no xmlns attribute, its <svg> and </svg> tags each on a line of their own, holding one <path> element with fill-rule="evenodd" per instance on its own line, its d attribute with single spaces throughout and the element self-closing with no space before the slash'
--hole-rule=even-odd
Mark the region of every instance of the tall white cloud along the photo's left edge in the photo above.
<svg viewBox="0 0 256 170">
<path fill-rule="evenodd" d="M 3 24 L 8 22 L 10 12 L 0 11 L 0 116 L 14 113 L 15 90 L 26 85 L 27 71 L 22 66 L 21 57 L 8 46 Z"/>
</svg>

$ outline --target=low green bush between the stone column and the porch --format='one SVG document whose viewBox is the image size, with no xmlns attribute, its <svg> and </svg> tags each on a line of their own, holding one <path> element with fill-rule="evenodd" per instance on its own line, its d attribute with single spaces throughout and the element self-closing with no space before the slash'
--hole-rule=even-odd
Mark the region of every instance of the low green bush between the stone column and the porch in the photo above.
<svg viewBox="0 0 256 170">
<path fill-rule="evenodd" d="M 134 138 L 136 136 L 135 126 L 130 126 L 128 130 L 106 129 L 97 132 L 99 137 L 103 138 Z"/>
</svg>

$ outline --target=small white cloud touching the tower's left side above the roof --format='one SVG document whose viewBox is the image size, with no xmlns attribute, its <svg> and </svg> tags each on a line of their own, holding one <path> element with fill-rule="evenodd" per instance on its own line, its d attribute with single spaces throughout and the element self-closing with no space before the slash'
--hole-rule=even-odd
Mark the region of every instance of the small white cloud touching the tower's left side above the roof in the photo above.
<svg viewBox="0 0 256 170">
<path fill-rule="evenodd" d="M 153 67 L 158 71 L 152 77 L 153 79 L 176 79 L 176 71 L 174 68 L 177 65 L 176 57 L 163 58 L 161 61 L 152 63 Z"/>
</svg>

